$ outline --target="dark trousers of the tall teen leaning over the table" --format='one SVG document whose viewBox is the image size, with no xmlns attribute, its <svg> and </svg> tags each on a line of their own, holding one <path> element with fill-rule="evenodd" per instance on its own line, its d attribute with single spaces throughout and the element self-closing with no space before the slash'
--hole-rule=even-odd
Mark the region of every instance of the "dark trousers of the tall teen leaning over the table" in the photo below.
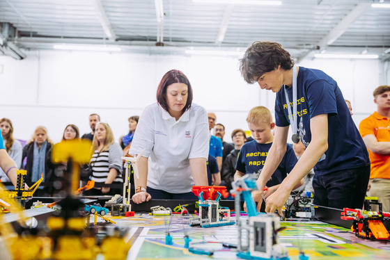
<svg viewBox="0 0 390 260">
<path fill-rule="evenodd" d="M 370 165 L 330 172 L 321 176 L 314 174 L 313 203 L 334 209 L 361 209 L 369 178 Z"/>
</svg>

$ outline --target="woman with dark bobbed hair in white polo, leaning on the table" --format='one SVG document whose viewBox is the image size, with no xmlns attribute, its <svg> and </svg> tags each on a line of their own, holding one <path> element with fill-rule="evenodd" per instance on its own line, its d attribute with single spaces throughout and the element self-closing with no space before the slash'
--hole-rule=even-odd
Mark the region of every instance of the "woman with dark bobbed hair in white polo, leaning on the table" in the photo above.
<svg viewBox="0 0 390 260">
<path fill-rule="evenodd" d="M 144 148 L 139 179 L 134 178 L 135 203 L 152 197 L 196 200 L 192 186 L 208 185 L 207 113 L 192 104 L 191 84 L 179 70 L 166 72 L 157 89 L 157 103 L 147 106 L 139 118 L 129 154 L 135 156 Z"/>
</svg>

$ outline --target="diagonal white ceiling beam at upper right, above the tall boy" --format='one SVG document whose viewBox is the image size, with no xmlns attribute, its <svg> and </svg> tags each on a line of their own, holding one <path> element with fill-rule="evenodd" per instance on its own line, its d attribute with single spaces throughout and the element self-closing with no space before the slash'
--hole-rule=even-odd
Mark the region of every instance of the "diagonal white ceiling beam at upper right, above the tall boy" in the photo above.
<svg viewBox="0 0 390 260">
<path fill-rule="evenodd" d="M 362 13 L 366 12 L 370 8 L 371 3 L 359 3 L 355 6 L 347 16 L 345 16 L 336 26 L 334 26 L 329 33 L 318 42 L 320 49 L 326 48 L 328 45 L 335 42 L 348 27 L 357 19 Z"/>
</svg>

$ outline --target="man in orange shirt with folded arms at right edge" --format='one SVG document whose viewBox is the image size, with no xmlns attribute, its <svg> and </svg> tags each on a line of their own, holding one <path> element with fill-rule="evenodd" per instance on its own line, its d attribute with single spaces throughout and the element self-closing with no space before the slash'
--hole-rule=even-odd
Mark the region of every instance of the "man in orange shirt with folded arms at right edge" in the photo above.
<svg viewBox="0 0 390 260">
<path fill-rule="evenodd" d="M 383 211 L 390 211 L 390 86 L 374 91 L 377 111 L 362 120 L 359 131 L 370 154 L 368 195 L 378 197 Z"/>
</svg>

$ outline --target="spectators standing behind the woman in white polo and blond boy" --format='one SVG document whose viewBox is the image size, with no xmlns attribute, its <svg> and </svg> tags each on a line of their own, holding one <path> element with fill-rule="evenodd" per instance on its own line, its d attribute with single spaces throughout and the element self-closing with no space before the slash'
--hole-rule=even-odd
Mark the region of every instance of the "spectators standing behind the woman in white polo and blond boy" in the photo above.
<svg viewBox="0 0 390 260">
<path fill-rule="evenodd" d="M 217 116 L 215 113 L 208 113 L 210 129 L 210 152 L 207 163 L 208 183 L 209 185 L 223 185 L 228 190 L 231 190 L 231 184 L 234 181 L 233 177 L 237 172 L 236 163 L 240 149 L 244 143 L 253 139 L 244 130 L 235 129 L 231 133 L 233 143 L 228 143 L 224 140 L 224 124 L 216 124 L 216 121 Z M 130 156 L 128 152 L 139 122 L 139 116 L 133 115 L 129 117 L 128 122 L 128 132 L 120 136 L 118 143 L 114 140 L 114 134 L 109 124 L 100 122 L 100 115 L 95 113 L 89 115 L 91 132 L 84 133 L 81 136 L 79 128 L 75 124 L 68 124 L 65 127 L 61 142 L 79 139 L 91 140 L 93 156 L 88 166 L 92 170 L 90 176 L 85 181 L 89 179 L 98 184 L 117 184 L 115 188 L 95 187 L 92 190 L 88 190 L 88 195 L 115 195 L 122 193 L 121 188 L 118 188 L 120 187 L 118 184 L 123 184 L 124 181 L 124 161 L 121 157 Z M 49 138 L 47 129 L 43 126 L 36 127 L 31 140 L 27 141 L 24 146 L 21 145 L 19 140 L 13 138 L 13 124 L 11 120 L 2 118 L 0 120 L 0 129 L 6 152 L 15 161 L 17 168 L 27 170 L 26 181 L 34 183 L 40 179 L 40 174 L 43 173 L 42 186 L 44 188 L 40 188 L 38 193 L 39 195 L 53 195 L 52 184 L 59 179 L 56 172 L 61 172 L 58 169 L 63 170 L 65 165 L 52 163 L 51 156 L 54 143 Z M 84 165 L 84 167 L 86 166 Z M 134 177 L 131 175 L 131 178 L 132 189 L 134 190 Z M 0 181 L 10 181 L 6 173 L 1 169 Z"/>
</svg>

